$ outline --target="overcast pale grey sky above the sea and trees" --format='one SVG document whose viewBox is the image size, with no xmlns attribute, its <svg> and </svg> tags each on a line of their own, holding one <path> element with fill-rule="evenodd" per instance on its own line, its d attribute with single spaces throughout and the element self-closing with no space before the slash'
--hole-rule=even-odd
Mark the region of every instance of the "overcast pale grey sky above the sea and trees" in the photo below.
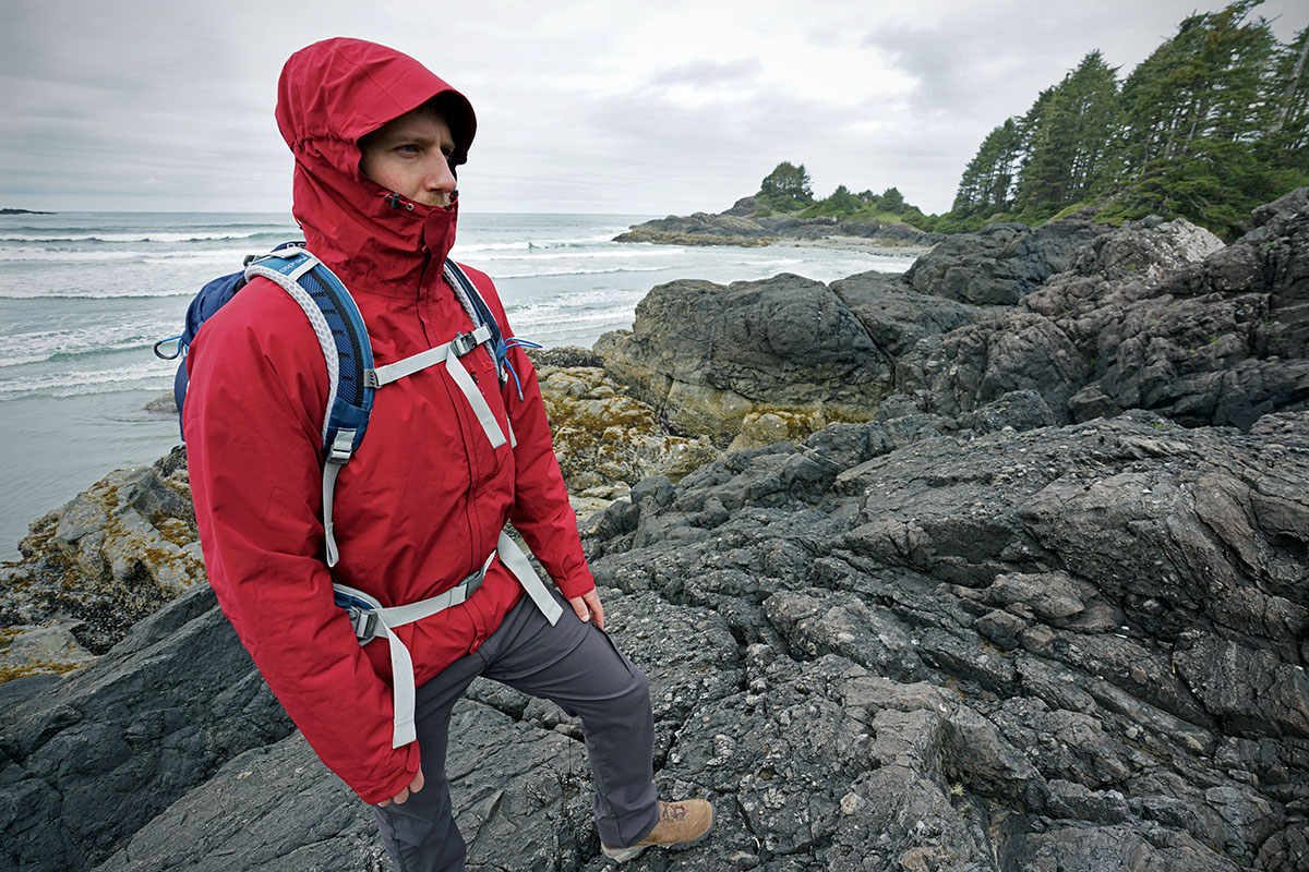
<svg viewBox="0 0 1309 872">
<path fill-rule="evenodd" d="M 478 112 L 463 209 L 719 212 L 779 161 L 949 209 L 987 132 L 1221 0 L 3 0 L 0 207 L 288 210 L 295 50 L 386 43 Z M 1267 0 L 1288 42 L 1304 0 Z"/>
</svg>

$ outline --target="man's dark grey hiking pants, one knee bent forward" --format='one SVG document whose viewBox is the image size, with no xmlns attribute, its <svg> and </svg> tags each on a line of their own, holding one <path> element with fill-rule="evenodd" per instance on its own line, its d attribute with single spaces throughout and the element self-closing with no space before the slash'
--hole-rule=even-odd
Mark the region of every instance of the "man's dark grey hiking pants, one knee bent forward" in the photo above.
<svg viewBox="0 0 1309 872">
<path fill-rule="evenodd" d="M 373 807 L 398 872 L 465 869 L 463 837 L 450 813 L 445 745 L 450 711 L 479 675 L 581 718 L 596 782 L 596 829 L 605 845 L 632 845 L 654 828 L 654 718 L 645 673 L 603 631 L 577 620 L 571 605 L 563 608 L 559 624 L 550 626 L 524 596 L 476 652 L 418 689 L 415 722 L 425 784 L 403 805 Z"/>
</svg>

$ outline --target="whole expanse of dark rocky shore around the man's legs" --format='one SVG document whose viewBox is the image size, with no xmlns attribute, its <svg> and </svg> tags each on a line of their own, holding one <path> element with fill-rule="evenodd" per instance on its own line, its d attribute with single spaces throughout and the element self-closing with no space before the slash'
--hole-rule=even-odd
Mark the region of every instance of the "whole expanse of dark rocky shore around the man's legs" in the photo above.
<svg viewBox="0 0 1309 872">
<path fill-rule="evenodd" d="M 538 358 L 657 779 L 719 812 L 630 868 L 1309 868 L 1309 190 L 1254 222 L 669 282 Z M 179 454 L 114 473 L 0 575 L 10 656 L 80 648 L 0 682 L 0 869 L 386 868 L 185 494 Z M 576 723 L 492 684 L 456 719 L 470 868 L 610 868 Z"/>
</svg>

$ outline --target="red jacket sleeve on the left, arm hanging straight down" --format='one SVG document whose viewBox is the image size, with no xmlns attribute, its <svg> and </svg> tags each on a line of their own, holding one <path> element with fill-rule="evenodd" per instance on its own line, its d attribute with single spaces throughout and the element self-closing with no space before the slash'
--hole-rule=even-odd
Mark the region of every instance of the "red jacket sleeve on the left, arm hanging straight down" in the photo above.
<svg viewBox="0 0 1309 872">
<path fill-rule="evenodd" d="M 268 323 L 276 335 L 257 329 Z M 206 323 L 187 366 L 187 465 L 219 603 L 322 761 L 365 801 L 390 799 L 418 771 L 419 750 L 391 748 L 390 685 L 332 604 L 317 340 L 289 297 L 251 282 Z"/>
</svg>

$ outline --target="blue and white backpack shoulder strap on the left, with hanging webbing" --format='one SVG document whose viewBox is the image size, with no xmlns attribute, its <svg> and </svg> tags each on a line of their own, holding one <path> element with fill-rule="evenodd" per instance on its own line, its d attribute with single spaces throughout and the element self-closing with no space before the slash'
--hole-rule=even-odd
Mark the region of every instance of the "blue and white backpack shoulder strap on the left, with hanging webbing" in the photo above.
<svg viewBox="0 0 1309 872">
<path fill-rule="evenodd" d="M 246 280 L 267 278 L 300 303 L 318 337 L 327 362 L 327 408 L 323 411 L 323 531 L 327 565 L 339 558 L 332 535 L 331 503 L 336 476 L 364 441 L 373 409 L 373 388 L 367 373 L 373 369 L 368 328 L 353 297 L 318 258 L 304 248 L 283 248 L 255 260 Z"/>
</svg>

